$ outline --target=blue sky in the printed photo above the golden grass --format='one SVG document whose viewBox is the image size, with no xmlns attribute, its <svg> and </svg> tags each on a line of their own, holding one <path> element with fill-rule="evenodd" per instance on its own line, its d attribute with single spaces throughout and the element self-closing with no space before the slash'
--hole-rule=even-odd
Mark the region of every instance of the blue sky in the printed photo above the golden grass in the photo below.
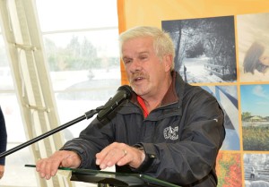
<svg viewBox="0 0 269 187">
<path fill-rule="evenodd" d="M 269 116 L 269 85 L 241 85 L 241 111 Z"/>
</svg>

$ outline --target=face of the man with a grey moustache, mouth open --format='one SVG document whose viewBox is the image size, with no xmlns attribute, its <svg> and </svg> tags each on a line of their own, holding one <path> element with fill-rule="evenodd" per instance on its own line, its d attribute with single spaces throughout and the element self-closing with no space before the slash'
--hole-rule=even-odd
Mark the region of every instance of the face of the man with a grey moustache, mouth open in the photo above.
<svg viewBox="0 0 269 187">
<path fill-rule="evenodd" d="M 136 94 L 151 97 L 158 94 L 168 68 L 155 54 L 152 38 L 133 38 L 122 47 L 128 80 Z"/>
</svg>

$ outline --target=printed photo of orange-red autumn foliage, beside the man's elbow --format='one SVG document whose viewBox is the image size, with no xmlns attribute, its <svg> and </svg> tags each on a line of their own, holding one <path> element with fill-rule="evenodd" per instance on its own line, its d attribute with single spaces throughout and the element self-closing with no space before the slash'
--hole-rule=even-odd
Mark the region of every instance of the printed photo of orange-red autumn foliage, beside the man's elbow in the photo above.
<svg viewBox="0 0 269 187">
<path fill-rule="evenodd" d="M 218 187 L 242 187 L 240 157 L 239 153 L 219 153 L 216 165 Z"/>
</svg>

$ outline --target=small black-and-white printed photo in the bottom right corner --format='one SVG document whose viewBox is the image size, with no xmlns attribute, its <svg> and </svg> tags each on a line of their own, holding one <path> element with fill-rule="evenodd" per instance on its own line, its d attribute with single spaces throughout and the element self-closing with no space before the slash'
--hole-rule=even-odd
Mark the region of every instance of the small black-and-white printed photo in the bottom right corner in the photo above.
<svg viewBox="0 0 269 187">
<path fill-rule="evenodd" d="M 269 186 L 269 155 L 244 154 L 243 157 L 245 186 Z"/>
</svg>

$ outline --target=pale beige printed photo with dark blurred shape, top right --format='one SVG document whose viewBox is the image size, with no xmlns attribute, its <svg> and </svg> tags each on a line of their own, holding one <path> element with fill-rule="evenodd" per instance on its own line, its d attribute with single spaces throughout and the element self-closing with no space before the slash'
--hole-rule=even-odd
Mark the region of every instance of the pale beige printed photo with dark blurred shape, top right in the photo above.
<svg viewBox="0 0 269 187">
<path fill-rule="evenodd" d="M 237 16 L 239 79 L 269 81 L 269 13 Z"/>
</svg>

